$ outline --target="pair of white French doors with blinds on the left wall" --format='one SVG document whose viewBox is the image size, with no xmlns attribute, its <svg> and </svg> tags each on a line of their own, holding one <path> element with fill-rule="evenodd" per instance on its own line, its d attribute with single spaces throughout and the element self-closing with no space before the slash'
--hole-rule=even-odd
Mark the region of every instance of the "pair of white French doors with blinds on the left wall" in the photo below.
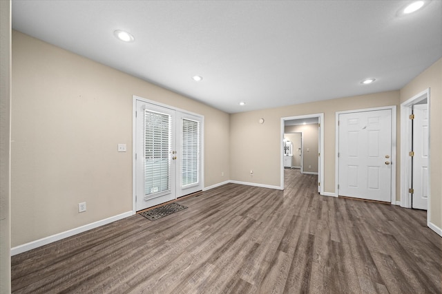
<svg viewBox="0 0 442 294">
<path fill-rule="evenodd" d="M 135 101 L 135 211 L 200 191 L 202 116 Z"/>
</svg>

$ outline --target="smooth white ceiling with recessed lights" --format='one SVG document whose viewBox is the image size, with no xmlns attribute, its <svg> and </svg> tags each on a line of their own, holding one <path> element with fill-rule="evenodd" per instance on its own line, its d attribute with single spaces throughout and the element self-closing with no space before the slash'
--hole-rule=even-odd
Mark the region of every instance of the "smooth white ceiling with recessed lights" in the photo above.
<svg viewBox="0 0 442 294">
<path fill-rule="evenodd" d="M 442 1 L 411 2 L 12 0 L 12 28 L 236 113 L 401 89 L 442 57 Z"/>
</svg>

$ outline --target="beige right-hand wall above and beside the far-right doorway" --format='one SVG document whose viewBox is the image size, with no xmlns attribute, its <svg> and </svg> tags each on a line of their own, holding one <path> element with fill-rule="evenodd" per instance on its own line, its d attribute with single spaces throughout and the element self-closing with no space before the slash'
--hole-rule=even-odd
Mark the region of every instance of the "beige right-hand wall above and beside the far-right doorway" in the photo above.
<svg viewBox="0 0 442 294">
<path fill-rule="evenodd" d="M 442 229 L 442 59 L 401 90 L 401 103 L 430 88 L 430 222 Z"/>
</svg>

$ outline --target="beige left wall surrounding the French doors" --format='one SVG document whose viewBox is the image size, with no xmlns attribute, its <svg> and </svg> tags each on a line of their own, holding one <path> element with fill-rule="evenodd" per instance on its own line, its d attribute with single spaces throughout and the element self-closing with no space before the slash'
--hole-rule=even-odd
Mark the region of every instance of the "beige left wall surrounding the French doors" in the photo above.
<svg viewBox="0 0 442 294">
<path fill-rule="evenodd" d="M 133 95 L 204 115 L 204 186 L 230 178 L 229 114 L 12 32 L 12 246 L 132 210 Z"/>
</svg>

